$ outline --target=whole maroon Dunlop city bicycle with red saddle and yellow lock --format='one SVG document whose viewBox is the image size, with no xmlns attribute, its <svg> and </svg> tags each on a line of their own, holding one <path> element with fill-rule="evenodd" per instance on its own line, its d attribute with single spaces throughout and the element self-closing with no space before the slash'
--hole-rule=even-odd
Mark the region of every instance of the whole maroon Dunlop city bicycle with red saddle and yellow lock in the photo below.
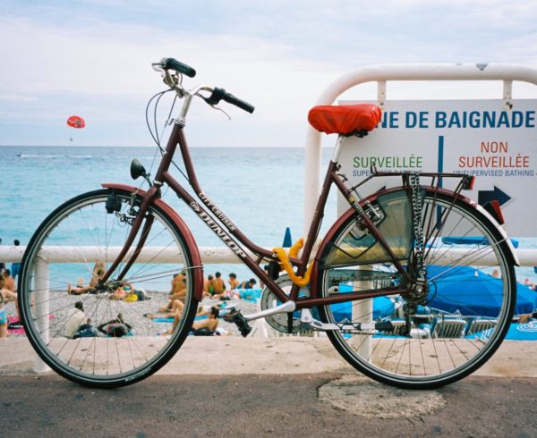
<svg viewBox="0 0 537 438">
<path fill-rule="evenodd" d="M 193 78 L 195 71 L 173 58 L 153 68 L 161 73 L 166 92 L 183 99 L 183 106 L 170 119 L 166 149 L 157 139 L 161 160 L 154 178 L 138 160 L 132 161 L 132 178 L 141 177 L 149 188 L 105 183 L 101 190 L 68 200 L 41 223 L 24 253 L 21 318 L 48 366 L 76 383 L 122 386 L 155 373 L 183 344 L 202 299 L 203 265 L 192 232 L 161 198 L 165 185 L 266 285 L 259 312 L 243 315 L 232 309 L 226 316 L 244 336 L 250 333 L 249 323 L 260 318 L 285 333 L 314 329 L 326 333 L 363 374 L 413 389 L 455 382 L 498 349 L 514 313 L 517 260 L 500 226 L 498 204 L 483 207 L 462 195 L 472 189 L 473 177 L 386 173 L 371 167 L 369 177 L 350 186 L 339 172 L 344 139 L 373 131 L 379 107 L 314 107 L 311 124 L 337 133 L 337 142 L 310 231 L 289 253 L 261 248 L 201 190 L 183 130 L 194 97 L 215 108 L 222 101 L 249 113 L 254 107 L 223 88 L 185 88 L 183 76 Z M 177 148 L 193 196 L 170 173 Z M 400 179 L 400 185 L 365 197 L 358 193 L 372 178 L 388 176 Z M 423 179 L 430 182 L 424 185 Z M 442 189 L 441 181 L 448 179 L 456 181 L 455 190 Z M 349 209 L 318 244 L 333 185 Z M 267 264 L 265 272 L 261 266 Z M 68 294 L 67 282 L 79 275 L 91 276 L 90 284 Z M 90 324 L 120 312 L 122 322 L 133 324 L 141 310 L 135 302 L 110 299 L 118 288 L 132 284 L 157 307 L 166 306 L 173 282 L 182 284 L 183 308 L 167 336 L 160 336 L 159 326 L 149 320 L 121 336 L 64 333 L 76 300 L 82 301 Z M 470 286 L 490 291 L 487 303 L 472 303 L 465 291 Z M 482 327 L 489 324 L 488 336 L 472 330 L 476 320 Z"/>
</svg>

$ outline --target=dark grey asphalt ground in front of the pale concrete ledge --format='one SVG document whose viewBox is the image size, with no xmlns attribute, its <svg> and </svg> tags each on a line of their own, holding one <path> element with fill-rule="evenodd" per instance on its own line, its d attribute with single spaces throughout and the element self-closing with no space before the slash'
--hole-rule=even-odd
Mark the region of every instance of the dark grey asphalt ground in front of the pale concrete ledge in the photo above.
<svg viewBox="0 0 537 438">
<path fill-rule="evenodd" d="M 336 384 L 344 392 L 327 399 L 323 392 Z M 157 375 L 109 391 L 54 375 L 3 376 L 0 434 L 530 438 L 537 431 L 536 393 L 535 379 L 502 377 L 469 377 L 433 392 L 410 392 L 371 381 L 341 383 L 337 373 Z"/>
</svg>

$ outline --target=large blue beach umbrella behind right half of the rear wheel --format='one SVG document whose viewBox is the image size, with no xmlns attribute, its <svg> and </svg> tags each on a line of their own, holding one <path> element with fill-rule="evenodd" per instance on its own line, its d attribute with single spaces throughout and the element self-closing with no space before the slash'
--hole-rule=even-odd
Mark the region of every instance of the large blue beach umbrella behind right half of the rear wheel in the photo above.
<svg viewBox="0 0 537 438">
<path fill-rule="evenodd" d="M 445 274 L 443 274 L 445 273 Z M 429 307 L 447 313 L 460 312 L 463 316 L 499 315 L 503 282 L 471 266 L 429 266 Z M 436 278 L 435 278 L 436 277 Z M 537 307 L 537 293 L 517 283 L 515 315 L 533 312 Z"/>
</svg>

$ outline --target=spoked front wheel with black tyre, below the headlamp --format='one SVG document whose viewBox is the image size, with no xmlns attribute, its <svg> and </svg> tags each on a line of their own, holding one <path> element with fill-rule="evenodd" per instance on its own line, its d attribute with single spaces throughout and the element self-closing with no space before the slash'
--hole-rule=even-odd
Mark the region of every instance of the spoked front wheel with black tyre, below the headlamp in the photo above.
<svg viewBox="0 0 537 438">
<path fill-rule="evenodd" d="M 101 388 L 138 382 L 172 358 L 192 326 L 198 305 L 193 269 L 200 266 L 192 266 L 182 232 L 158 206 L 144 216 L 152 225 L 138 232 L 145 243 L 136 261 L 116 276 L 137 240 L 112 278 L 98 282 L 140 206 L 139 195 L 123 190 L 72 198 L 39 226 L 24 254 L 24 328 L 40 358 L 73 382 Z M 180 300 L 169 299 L 172 288 Z"/>
</svg>

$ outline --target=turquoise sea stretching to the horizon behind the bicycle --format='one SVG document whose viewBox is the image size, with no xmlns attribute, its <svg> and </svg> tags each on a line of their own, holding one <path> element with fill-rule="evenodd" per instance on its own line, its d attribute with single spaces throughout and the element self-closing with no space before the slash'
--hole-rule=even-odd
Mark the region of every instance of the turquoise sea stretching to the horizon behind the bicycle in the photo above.
<svg viewBox="0 0 537 438">
<path fill-rule="evenodd" d="M 331 149 L 323 149 L 322 169 Z M 286 228 L 293 241 L 303 236 L 304 149 L 302 147 L 192 147 L 192 161 L 200 185 L 209 198 L 254 243 L 267 248 L 282 246 Z M 56 206 L 103 182 L 132 181 L 130 163 L 138 158 L 146 169 L 156 170 L 157 147 L 8 146 L 0 147 L 0 239 L 25 245 L 33 232 Z M 183 170 L 181 156 L 175 163 Z M 188 183 L 179 169 L 175 178 Z M 200 247 L 223 246 L 205 223 L 171 190 L 164 199 L 183 216 Z M 337 197 L 328 198 L 321 234 L 337 217 Z M 537 240 L 515 236 L 519 248 L 537 248 Z M 205 274 L 219 271 L 247 280 L 251 272 L 243 265 L 206 265 Z M 533 266 L 517 268 L 519 282 L 537 283 Z"/>
</svg>

